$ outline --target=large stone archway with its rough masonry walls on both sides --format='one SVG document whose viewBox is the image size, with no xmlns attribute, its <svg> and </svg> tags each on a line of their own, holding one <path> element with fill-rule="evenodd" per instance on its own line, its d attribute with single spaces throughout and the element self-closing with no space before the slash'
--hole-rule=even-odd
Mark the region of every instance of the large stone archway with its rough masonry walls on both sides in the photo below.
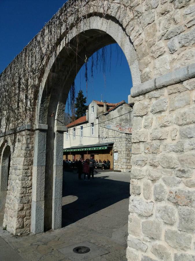
<svg viewBox="0 0 195 261">
<path fill-rule="evenodd" d="M 7 198 L 8 204 L 16 203 L 14 210 L 10 204 L 4 218 L 8 231 L 27 232 L 31 224 L 33 233 L 41 233 L 44 223 L 45 229 L 61 226 L 62 139 L 66 130 L 62 119 L 66 98 L 86 56 L 117 42 L 129 63 L 131 96 L 135 97 L 127 258 L 193 260 L 193 8 L 193 1 L 86 1 L 77 10 L 82 15 L 79 26 L 72 22 L 66 27 L 69 9 L 62 7 L 50 26 L 26 47 L 28 55 L 29 50 L 37 55 L 36 61 L 32 59 L 27 64 L 30 70 L 36 63 L 43 70 L 35 71 L 38 99 L 34 125 L 28 125 L 30 121 L 26 119 L 26 125 L 17 129 L 23 143 L 16 143 L 13 157 L 17 163 L 11 164 L 10 171 L 11 178 L 18 171 L 20 178 L 13 178 L 12 184 L 19 181 L 25 192 L 11 191 Z M 73 21 L 76 15 L 72 13 Z M 48 53 L 45 46 L 50 42 Z M 39 49 L 33 49 L 34 43 L 42 49 L 42 59 Z M 15 70 L 20 59 L 25 59 L 23 53 L 2 75 L 7 75 L 10 68 Z M 25 75 L 21 76 L 25 79 Z M 0 139 L 3 136 L 1 133 Z M 19 150 L 23 151 L 22 160 Z M 30 187 L 27 189 L 31 178 L 32 192 Z"/>
</svg>

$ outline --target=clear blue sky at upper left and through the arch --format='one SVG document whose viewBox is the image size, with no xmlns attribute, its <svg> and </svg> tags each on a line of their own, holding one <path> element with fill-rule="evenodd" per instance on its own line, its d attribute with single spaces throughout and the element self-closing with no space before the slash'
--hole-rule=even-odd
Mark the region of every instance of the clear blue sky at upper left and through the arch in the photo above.
<svg viewBox="0 0 195 261">
<path fill-rule="evenodd" d="M 41 30 L 44 24 L 51 19 L 65 0 L 0 0 L 0 73 L 8 66 L 14 57 L 31 41 Z M 116 44 L 112 45 L 111 68 L 110 48 L 107 48 L 107 69 L 103 75 L 102 68 L 94 70 L 94 78 L 86 82 L 84 68 L 81 68 L 75 79 L 77 92 L 81 88 L 88 98 L 107 102 L 127 102 L 132 87 L 131 74 L 127 60 Z M 90 68 L 90 60 L 88 61 Z M 89 69 L 90 71 L 90 69 Z M 81 80 L 80 80 L 81 79 Z"/>
</svg>

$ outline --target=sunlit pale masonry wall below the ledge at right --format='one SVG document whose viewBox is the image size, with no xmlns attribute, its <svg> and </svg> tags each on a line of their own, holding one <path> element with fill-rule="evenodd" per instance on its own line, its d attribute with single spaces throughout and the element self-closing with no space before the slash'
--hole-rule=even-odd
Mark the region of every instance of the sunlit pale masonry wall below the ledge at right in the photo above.
<svg viewBox="0 0 195 261">
<path fill-rule="evenodd" d="M 127 258 L 195 260 L 195 79 L 135 97 Z"/>
</svg>

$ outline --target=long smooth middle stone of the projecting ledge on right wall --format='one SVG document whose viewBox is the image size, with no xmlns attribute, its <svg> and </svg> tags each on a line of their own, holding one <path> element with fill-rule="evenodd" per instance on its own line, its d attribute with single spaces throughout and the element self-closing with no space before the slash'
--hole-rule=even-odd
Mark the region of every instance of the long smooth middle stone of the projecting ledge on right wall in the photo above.
<svg viewBox="0 0 195 261">
<path fill-rule="evenodd" d="M 166 75 L 160 76 L 156 78 L 156 88 L 162 88 L 165 86 L 169 86 L 172 84 L 177 84 L 179 82 L 188 80 L 188 70 L 187 66 L 182 67 L 180 69 L 174 70 L 171 73 L 167 73 Z"/>
</svg>

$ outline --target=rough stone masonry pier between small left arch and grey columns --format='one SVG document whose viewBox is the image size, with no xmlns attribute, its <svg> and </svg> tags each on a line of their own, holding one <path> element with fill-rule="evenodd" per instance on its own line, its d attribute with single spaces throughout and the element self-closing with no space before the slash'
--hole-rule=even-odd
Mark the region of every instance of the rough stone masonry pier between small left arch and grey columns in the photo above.
<svg viewBox="0 0 195 261">
<path fill-rule="evenodd" d="M 30 231 L 33 136 L 28 131 L 18 133 L 14 150 L 10 136 L 6 137 L 11 147 L 11 162 L 3 227 L 7 226 L 14 235 Z M 0 144 L 2 142 L 3 138 Z"/>
</svg>

